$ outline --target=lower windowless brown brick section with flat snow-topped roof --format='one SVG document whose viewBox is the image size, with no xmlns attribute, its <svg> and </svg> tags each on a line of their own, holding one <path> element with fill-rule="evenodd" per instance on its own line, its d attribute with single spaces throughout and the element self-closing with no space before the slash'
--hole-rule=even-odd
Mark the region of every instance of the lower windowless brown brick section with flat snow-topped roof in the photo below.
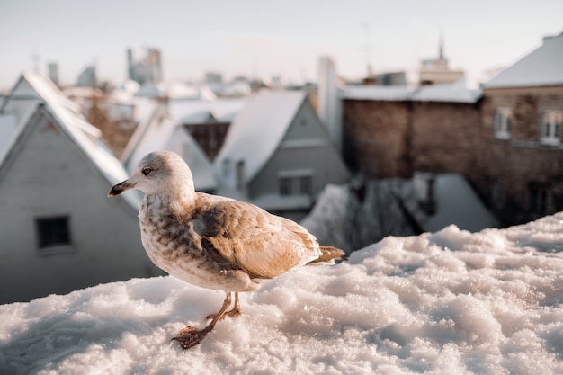
<svg viewBox="0 0 563 375">
<path fill-rule="evenodd" d="M 472 176 L 480 90 L 462 83 L 353 87 L 344 97 L 346 161 L 370 177 L 416 171 Z"/>
</svg>

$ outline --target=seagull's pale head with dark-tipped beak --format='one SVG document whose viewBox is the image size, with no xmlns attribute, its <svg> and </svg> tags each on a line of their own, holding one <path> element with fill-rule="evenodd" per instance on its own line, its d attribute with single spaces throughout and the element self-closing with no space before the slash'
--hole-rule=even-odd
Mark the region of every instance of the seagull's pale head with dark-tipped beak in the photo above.
<svg viewBox="0 0 563 375">
<path fill-rule="evenodd" d="M 172 151 L 155 151 L 144 156 L 127 180 L 116 184 L 108 192 L 114 197 L 130 189 L 145 194 L 169 191 L 194 192 L 193 177 L 183 158 Z"/>
</svg>

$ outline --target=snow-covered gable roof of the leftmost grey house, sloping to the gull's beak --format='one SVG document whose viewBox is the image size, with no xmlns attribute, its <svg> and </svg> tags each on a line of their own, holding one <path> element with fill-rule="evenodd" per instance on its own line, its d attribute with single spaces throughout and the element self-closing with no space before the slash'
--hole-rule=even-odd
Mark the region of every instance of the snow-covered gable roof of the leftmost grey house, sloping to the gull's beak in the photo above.
<svg viewBox="0 0 563 375">
<path fill-rule="evenodd" d="M 31 104 L 31 109 L 18 119 L 16 129 L 12 132 L 10 140 L 0 149 L 0 165 L 3 165 L 10 155 L 11 149 L 20 140 L 22 132 L 28 125 L 31 114 L 44 106 L 45 110 L 57 121 L 58 126 L 72 139 L 76 146 L 84 152 L 86 158 L 102 174 L 108 182 L 108 188 L 127 178 L 127 173 L 120 161 L 103 142 L 102 132 L 85 121 L 80 113 L 80 107 L 67 99 L 67 97 L 54 85 L 47 76 L 40 73 L 23 73 L 12 94 L 4 103 L 4 109 L 9 109 L 8 104 L 17 100 L 18 96 L 36 99 L 37 103 Z M 39 106 L 38 106 L 39 105 Z M 139 209 L 139 196 L 126 194 L 123 199 L 134 210 Z"/>
</svg>

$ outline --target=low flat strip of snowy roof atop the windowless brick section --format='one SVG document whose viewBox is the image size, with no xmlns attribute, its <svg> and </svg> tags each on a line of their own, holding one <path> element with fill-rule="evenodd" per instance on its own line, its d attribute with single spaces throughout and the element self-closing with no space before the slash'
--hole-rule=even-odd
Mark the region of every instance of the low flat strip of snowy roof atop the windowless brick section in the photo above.
<svg viewBox="0 0 563 375">
<path fill-rule="evenodd" d="M 480 89 L 471 90 L 465 80 L 452 84 L 408 86 L 350 86 L 344 92 L 344 99 L 389 102 L 444 102 L 475 103 L 482 96 Z"/>
</svg>

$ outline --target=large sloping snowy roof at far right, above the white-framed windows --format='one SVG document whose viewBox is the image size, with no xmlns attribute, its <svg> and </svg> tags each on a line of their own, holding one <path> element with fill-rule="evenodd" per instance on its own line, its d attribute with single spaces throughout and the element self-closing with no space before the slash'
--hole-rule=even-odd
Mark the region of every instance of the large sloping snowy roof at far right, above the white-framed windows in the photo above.
<svg viewBox="0 0 563 375">
<path fill-rule="evenodd" d="M 563 32 L 544 38 L 543 44 L 514 65 L 505 68 L 484 87 L 563 85 Z"/>
</svg>

